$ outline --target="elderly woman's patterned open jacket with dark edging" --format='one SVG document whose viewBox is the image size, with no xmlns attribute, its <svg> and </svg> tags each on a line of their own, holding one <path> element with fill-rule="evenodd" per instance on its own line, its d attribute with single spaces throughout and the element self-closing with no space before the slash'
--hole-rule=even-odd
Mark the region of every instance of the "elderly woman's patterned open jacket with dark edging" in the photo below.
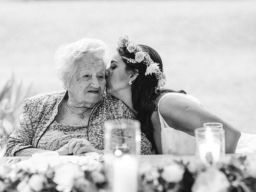
<svg viewBox="0 0 256 192">
<path fill-rule="evenodd" d="M 7 142 L 6 156 L 25 148 L 38 148 L 38 142 L 48 126 L 58 114 L 67 91 L 40 94 L 26 98 L 23 102 L 23 113 Z M 104 148 L 104 127 L 106 120 L 134 119 L 133 112 L 122 101 L 105 94 L 104 99 L 96 104 L 88 122 L 88 138 L 91 144 L 102 150 Z M 90 140 L 92 134 L 101 135 L 97 141 Z M 151 143 L 141 133 L 141 154 L 151 154 Z"/>
</svg>

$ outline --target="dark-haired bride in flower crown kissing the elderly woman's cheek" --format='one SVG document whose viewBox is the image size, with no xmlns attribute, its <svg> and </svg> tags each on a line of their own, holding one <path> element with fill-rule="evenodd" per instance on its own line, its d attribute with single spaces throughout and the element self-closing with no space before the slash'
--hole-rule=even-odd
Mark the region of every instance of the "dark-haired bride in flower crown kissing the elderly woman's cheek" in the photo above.
<svg viewBox="0 0 256 192">
<path fill-rule="evenodd" d="M 134 44 L 128 36 L 119 38 L 106 80 L 106 92 L 122 100 L 136 114 L 156 154 L 194 154 L 194 130 L 207 122 L 223 124 L 226 153 L 244 152 L 248 137 L 256 149 L 256 135 L 241 136 L 195 97 L 183 90 L 164 89 L 166 80 L 158 53 L 149 46 Z M 251 146 L 247 145 L 247 150 L 248 147 Z"/>
</svg>

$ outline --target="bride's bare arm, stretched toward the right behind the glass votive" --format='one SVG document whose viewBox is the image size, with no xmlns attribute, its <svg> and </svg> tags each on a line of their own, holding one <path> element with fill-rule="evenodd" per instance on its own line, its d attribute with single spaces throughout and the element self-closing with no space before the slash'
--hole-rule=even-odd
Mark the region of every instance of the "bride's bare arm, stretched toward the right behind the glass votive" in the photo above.
<svg viewBox="0 0 256 192">
<path fill-rule="evenodd" d="M 226 153 L 234 153 L 240 131 L 200 106 L 199 104 L 178 95 L 168 95 L 159 104 L 159 112 L 167 124 L 194 136 L 194 130 L 207 122 L 220 122 L 225 130 Z"/>
</svg>

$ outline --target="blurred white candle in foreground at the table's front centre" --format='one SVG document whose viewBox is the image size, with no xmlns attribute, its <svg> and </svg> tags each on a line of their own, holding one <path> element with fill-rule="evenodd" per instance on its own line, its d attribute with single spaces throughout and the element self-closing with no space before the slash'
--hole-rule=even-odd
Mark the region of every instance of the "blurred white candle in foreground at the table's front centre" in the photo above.
<svg viewBox="0 0 256 192">
<path fill-rule="evenodd" d="M 137 192 L 138 162 L 136 158 L 124 155 L 113 160 L 112 192 Z"/>
</svg>

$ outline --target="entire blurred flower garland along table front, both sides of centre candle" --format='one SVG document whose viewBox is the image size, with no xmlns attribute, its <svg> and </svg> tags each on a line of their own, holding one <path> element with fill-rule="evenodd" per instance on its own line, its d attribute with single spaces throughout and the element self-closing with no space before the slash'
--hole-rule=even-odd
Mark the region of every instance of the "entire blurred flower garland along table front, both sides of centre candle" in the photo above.
<svg viewBox="0 0 256 192">
<path fill-rule="evenodd" d="M 214 167 L 191 160 L 163 165 L 144 162 L 139 168 L 139 192 L 255 192 L 256 157 L 232 157 Z M 0 192 L 106 192 L 104 164 L 66 163 L 44 172 L 0 166 Z"/>
</svg>

